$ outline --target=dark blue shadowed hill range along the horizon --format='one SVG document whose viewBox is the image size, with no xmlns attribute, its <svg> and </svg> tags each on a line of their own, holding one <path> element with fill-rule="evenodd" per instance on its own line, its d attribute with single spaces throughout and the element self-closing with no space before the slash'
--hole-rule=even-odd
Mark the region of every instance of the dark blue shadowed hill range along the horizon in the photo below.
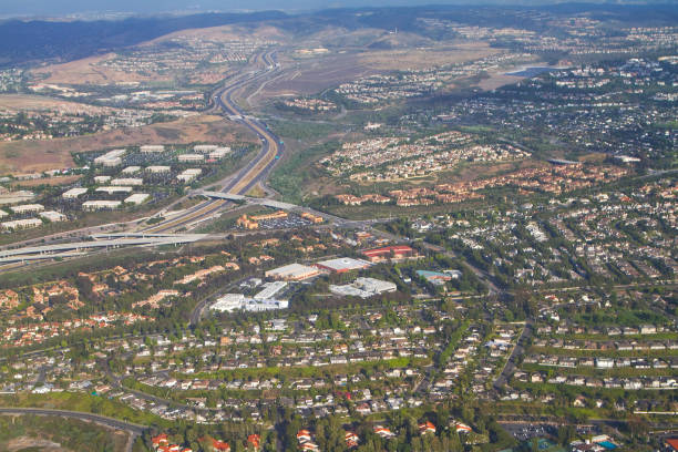
<svg viewBox="0 0 678 452">
<path fill-rule="evenodd" d="M 548 27 L 546 21 L 537 21 L 523 14 L 525 10 L 541 10 L 555 16 L 586 12 L 590 18 L 614 20 L 618 23 L 628 22 L 634 25 L 644 23 L 675 25 L 678 22 L 678 9 L 675 8 L 675 3 L 653 6 L 562 3 L 542 7 L 423 6 L 343 8 L 301 14 L 265 11 L 136 17 L 102 21 L 9 20 L 0 22 L 0 68 L 42 61 L 66 62 L 135 45 L 178 30 L 233 23 L 274 22 L 276 27 L 297 37 L 312 35 L 328 27 L 341 27 L 347 30 L 363 28 L 398 30 L 412 33 L 408 38 L 409 43 L 420 38 L 423 40 L 450 38 L 449 34 L 436 34 L 435 31 L 427 30 L 418 18 L 446 19 L 480 27 L 516 27 L 536 32 L 542 32 Z M 379 49 L 398 48 L 403 39 L 404 35 L 401 34 L 389 35 L 372 45 Z"/>
</svg>

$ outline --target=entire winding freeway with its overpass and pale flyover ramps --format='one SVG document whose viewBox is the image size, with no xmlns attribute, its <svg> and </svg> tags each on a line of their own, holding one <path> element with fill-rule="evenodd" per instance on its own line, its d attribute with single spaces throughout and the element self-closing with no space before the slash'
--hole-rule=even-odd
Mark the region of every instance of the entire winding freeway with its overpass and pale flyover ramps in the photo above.
<svg viewBox="0 0 678 452">
<path fill-rule="evenodd" d="M 205 201 L 175 213 L 168 213 L 167 208 L 165 208 L 153 216 L 162 218 L 153 225 L 146 223 L 148 218 L 129 222 L 124 225 L 125 232 L 119 232 L 120 225 L 103 225 L 54 235 L 49 237 L 47 243 L 44 240 L 32 240 L 25 244 L 3 247 L 0 249 L 0 271 L 11 270 L 28 263 L 44 263 L 55 258 L 70 259 L 94 253 L 105 253 L 111 248 L 158 245 L 179 246 L 206 237 L 210 238 L 207 235 L 182 232 L 215 217 L 225 207 L 232 206 L 233 201 L 238 199 L 250 204 L 270 205 L 274 208 L 309 212 L 323 217 L 339 227 L 370 227 L 373 223 L 383 220 L 347 220 L 302 206 L 245 196 L 253 187 L 265 184 L 266 177 L 285 152 L 285 144 L 279 136 L 268 129 L 266 123 L 246 114 L 236 104 L 234 96 L 242 90 L 251 88 L 256 83 L 265 83 L 269 80 L 270 75 L 279 72 L 280 66 L 276 63 L 275 56 L 275 51 L 258 54 L 255 63 L 264 65 L 263 70 L 242 72 L 225 82 L 224 86 L 216 90 L 212 95 L 212 110 L 220 112 L 226 119 L 248 129 L 259 138 L 261 148 L 243 168 L 220 181 L 217 184 L 219 188 L 216 191 L 198 189 L 187 195 L 204 196 Z"/>
</svg>

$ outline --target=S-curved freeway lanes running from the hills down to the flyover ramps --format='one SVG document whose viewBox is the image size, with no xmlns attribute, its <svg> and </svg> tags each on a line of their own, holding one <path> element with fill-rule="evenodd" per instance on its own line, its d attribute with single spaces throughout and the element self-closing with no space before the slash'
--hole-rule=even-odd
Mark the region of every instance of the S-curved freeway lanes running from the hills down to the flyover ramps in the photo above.
<svg viewBox="0 0 678 452">
<path fill-rule="evenodd" d="M 275 62 L 275 52 L 259 54 L 257 60 L 260 60 L 265 64 L 266 69 L 264 71 L 247 73 L 237 78 L 235 81 L 230 81 L 213 94 L 213 102 L 216 109 L 220 110 L 224 115 L 247 127 L 261 141 L 261 150 L 257 156 L 235 176 L 229 177 L 228 182 L 222 188 L 222 193 L 245 194 L 249 192 L 251 187 L 264 181 L 285 150 L 282 142 L 275 133 L 269 131 L 261 121 L 243 112 L 233 100 L 233 95 L 237 91 L 279 70 L 278 64 Z M 161 222 L 143 230 L 147 233 L 176 230 L 214 215 L 227 204 L 228 201 L 226 199 L 205 201 L 175 218 Z"/>
</svg>

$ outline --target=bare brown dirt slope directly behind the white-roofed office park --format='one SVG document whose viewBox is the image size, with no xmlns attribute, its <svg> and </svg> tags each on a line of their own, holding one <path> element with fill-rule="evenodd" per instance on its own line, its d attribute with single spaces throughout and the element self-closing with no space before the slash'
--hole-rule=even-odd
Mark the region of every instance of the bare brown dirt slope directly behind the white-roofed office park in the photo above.
<svg viewBox="0 0 678 452">
<path fill-rule="evenodd" d="M 220 116 L 201 115 L 143 127 L 50 141 L 0 143 L 0 174 L 31 173 L 73 166 L 71 153 L 141 144 L 255 142 L 245 129 Z"/>
</svg>

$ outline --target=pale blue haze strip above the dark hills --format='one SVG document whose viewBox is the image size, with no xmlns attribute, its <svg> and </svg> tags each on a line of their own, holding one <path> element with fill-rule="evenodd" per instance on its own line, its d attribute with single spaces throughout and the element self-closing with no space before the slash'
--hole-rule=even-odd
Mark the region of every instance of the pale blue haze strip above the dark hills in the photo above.
<svg viewBox="0 0 678 452">
<path fill-rule="evenodd" d="M 165 12 L 203 11 L 302 11 L 328 8 L 360 7 L 403 7 L 422 4 L 554 4 L 557 0 L 250 0 L 246 3 L 236 0 L 4 0 L 0 4 L 0 17 L 12 16 L 68 16 L 76 13 L 137 13 L 153 14 Z M 589 1 L 592 3 L 607 1 Z M 674 3 L 674 1 L 633 1 L 633 3 Z M 613 3 L 629 3 L 613 1 Z"/>
</svg>

